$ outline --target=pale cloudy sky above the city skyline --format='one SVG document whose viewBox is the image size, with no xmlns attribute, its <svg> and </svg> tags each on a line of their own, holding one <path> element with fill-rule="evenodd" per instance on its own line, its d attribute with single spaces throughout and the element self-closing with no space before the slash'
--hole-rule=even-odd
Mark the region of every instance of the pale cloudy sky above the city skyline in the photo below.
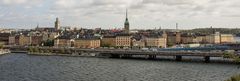
<svg viewBox="0 0 240 81">
<path fill-rule="evenodd" d="M 0 28 L 240 28 L 240 0 L 0 0 Z"/>
</svg>

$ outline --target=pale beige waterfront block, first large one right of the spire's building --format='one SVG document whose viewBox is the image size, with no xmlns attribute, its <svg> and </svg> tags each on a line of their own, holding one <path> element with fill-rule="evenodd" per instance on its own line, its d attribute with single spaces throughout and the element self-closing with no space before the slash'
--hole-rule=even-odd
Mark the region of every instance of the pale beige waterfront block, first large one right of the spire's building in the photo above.
<svg viewBox="0 0 240 81">
<path fill-rule="evenodd" d="M 164 37 L 148 37 L 146 38 L 146 47 L 166 48 L 167 39 Z"/>
</svg>

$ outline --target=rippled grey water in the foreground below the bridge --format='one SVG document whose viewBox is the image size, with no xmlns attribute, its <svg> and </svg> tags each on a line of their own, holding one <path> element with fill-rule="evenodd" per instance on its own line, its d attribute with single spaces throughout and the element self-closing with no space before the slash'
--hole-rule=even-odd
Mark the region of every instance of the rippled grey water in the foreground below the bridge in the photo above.
<svg viewBox="0 0 240 81">
<path fill-rule="evenodd" d="M 0 81 L 224 81 L 235 74 L 238 65 L 227 63 L 0 56 Z"/>
</svg>

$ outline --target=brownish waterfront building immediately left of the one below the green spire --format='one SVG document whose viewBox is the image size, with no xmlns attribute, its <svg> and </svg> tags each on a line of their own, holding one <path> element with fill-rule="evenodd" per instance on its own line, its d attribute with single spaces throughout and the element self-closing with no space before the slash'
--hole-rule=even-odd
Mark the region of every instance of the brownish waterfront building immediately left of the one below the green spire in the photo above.
<svg viewBox="0 0 240 81">
<path fill-rule="evenodd" d="M 115 47 L 116 36 L 103 36 L 101 40 L 101 47 Z"/>
</svg>

